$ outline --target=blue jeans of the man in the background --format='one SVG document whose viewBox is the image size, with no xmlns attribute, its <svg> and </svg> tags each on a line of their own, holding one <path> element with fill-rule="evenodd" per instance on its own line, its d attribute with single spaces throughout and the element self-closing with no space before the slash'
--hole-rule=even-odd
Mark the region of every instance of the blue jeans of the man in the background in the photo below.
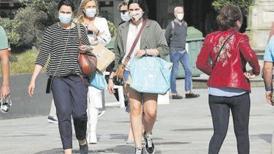
<svg viewBox="0 0 274 154">
<path fill-rule="evenodd" d="M 179 61 L 182 63 L 183 68 L 185 70 L 185 91 L 191 91 L 191 67 L 189 63 L 189 57 L 186 50 L 177 51 L 170 50 L 169 52 L 170 61 L 173 63 L 172 71 L 171 71 L 171 93 L 177 93 L 176 90 L 176 77 L 178 75 L 178 66 Z"/>
</svg>

